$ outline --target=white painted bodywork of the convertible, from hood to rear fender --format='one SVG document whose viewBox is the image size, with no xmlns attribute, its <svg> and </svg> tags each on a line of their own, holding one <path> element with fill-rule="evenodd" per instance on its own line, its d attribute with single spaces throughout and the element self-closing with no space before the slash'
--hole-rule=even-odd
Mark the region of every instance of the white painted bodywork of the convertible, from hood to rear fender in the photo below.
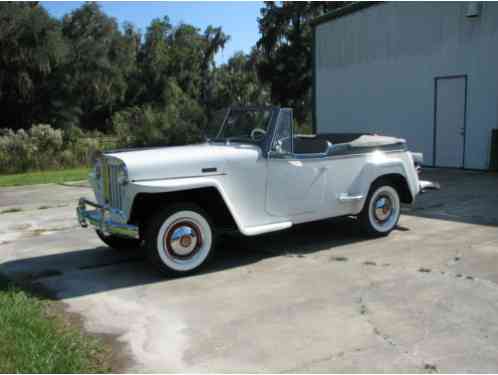
<svg viewBox="0 0 498 375">
<path fill-rule="evenodd" d="M 329 217 L 355 215 L 363 207 L 372 182 L 396 173 L 419 192 L 413 158 L 407 151 L 375 151 L 358 155 L 276 159 L 242 144 L 200 144 L 118 152 L 106 155 L 122 162 L 129 182 L 124 186 L 122 213 L 127 222 L 140 193 L 167 193 L 213 187 L 226 203 L 244 235 L 286 229 Z M 204 173 L 204 168 L 216 171 Z M 91 178 L 98 203 L 101 187 Z"/>
</svg>

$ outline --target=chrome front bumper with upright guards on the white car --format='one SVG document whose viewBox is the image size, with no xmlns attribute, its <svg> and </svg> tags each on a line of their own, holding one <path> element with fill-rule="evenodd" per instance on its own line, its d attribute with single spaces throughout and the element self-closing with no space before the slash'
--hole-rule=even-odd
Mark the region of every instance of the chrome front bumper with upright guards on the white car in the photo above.
<svg viewBox="0 0 498 375">
<path fill-rule="evenodd" d="M 87 210 L 87 205 L 95 209 Z M 78 207 L 76 208 L 78 221 L 83 228 L 87 228 L 90 224 L 95 229 L 106 234 L 135 239 L 139 238 L 138 226 L 112 221 L 109 217 L 110 212 L 110 208 L 101 206 L 85 198 L 80 198 Z"/>
</svg>

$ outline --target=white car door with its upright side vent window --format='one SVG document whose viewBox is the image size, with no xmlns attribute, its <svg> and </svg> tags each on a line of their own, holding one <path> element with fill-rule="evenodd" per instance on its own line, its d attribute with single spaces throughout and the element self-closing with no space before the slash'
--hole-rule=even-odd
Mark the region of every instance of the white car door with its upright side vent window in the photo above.
<svg viewBox="0 0 498 375">
<path fill-rule="evenodd" d="M 290 109 L 280 110 L 267 163 L 266 210 L 269 214 L 292 217 L 321 209 L 327 163 L 320 155 L 293 153 Z"/>
</svg>

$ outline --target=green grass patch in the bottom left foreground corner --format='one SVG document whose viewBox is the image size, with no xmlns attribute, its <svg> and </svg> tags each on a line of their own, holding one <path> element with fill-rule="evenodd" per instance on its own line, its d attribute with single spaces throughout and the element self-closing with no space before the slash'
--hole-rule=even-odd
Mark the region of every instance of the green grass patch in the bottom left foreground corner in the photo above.
<svg viewBox="0 0 498 375">
<path fill-rule="evenodd" d="M 107 372 L 106 349 L 49 302 L 0 277 L 0 373 Z"/>
</svg>

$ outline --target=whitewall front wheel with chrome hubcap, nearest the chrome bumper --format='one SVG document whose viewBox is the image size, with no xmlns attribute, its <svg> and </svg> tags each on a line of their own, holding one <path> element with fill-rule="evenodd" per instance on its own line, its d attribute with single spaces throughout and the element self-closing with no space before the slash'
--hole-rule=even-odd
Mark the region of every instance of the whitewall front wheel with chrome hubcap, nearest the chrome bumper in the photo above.
<svg viewBox="0 0 498 375">
<path fill-rule="evenodd" d="M 157 213 L 148 223 L 145 246 L 149 260 L 169 276 L 187 275 L 212 254 L 214 229 L 208 215 L 193 204 L 178 204 Z"/>
</svg>

